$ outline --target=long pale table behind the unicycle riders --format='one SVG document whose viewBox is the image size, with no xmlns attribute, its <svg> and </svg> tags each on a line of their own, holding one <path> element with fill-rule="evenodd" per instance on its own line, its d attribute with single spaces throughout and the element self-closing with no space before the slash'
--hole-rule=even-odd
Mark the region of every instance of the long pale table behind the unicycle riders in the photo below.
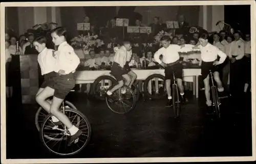
<svg viewBox="0 0 256 164">
<path fill-rule="evenodd" d="M 137 80 L 145 80 L 152 74 L 161 74 L 164 76 L 164 69 L 153 69 L 153 70 L 141 70 L 133 69 L 137 74 Z M 109 70 L 83 70 L 76 71 L 76 84 L 89 84 L 94 83 L 95 79 L 99 76 L 109 75 Z M 201 75 L 201 69 L 183 69 L 183 81 L 193 82 L 193 95 L 198 98 L 198 76 Z"/>
</svg>

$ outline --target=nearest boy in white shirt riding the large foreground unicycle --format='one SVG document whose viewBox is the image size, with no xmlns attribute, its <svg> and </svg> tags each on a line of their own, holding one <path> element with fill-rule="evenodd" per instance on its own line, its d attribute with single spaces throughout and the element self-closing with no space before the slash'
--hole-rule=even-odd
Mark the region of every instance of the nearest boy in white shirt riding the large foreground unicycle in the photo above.
<svg viewBox="0 0 256 164">
<path fill-rule="evenodd" d="M 56 58 L 56 65 L 54 72 L 54 83 L 42 90 L 37 96 L 37 102 L 48 112 L 51 112 L 55 117 L 52 121 L 56 124 L 60 122 L 67 126 L 70 132 L 70 146 L 82 134 L 82 130 L 73 125 L 69 118 L 59 111 L 63 99 L 75 87 L 75 78 L 73 73 L 80 64 L 80 59 L 74 52 L 74 49 L 66 41 L 67 31 L 58 27 L 51 33 L 53 43 L 58 46 L 58 50 L 54 52 Z M 46 101 L 50 96 L 53 96 L 52 104 Z"/>
</svg>

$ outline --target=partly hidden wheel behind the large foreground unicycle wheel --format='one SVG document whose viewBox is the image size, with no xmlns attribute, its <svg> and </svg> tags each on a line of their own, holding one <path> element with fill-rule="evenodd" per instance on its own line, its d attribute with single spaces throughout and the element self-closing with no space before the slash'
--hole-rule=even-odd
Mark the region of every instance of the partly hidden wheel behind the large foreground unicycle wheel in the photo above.
<svg viewBox="0 0 256 164">
<path fill-rule="evenodd" d="M 69 101 L 65 101 L 65 106 L 69 106 L 70 108 L 73 108 L 74 110 L 77 110 L 75 105 Z M 61 108 L 61 106 L 60 106 Z M 40 113 L 42 114 L 42 118 L 39 118 Z M 40 124 L 44 121 L 45 117 L 48 115 L 48 113 L 40 106 L 35 114 L 35 126 L 38 131 L 40 131 Z"/>
</svg>

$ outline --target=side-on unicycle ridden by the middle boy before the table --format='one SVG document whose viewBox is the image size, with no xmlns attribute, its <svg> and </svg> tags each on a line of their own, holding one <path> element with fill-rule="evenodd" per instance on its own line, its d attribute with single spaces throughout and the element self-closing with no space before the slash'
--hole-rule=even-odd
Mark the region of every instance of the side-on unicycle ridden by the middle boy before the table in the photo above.
<svg viewBox="0 0 256 164">
<path fill-rule="evenodd" d="M 114 86 L 109 88 L 112 89 Z M 122 91 L 125 91 L 123 94 Z M 110 96 L 105 96 L 106 104 L 116 114 L 126 114 L 132 111 L 136 105 L 136 97 L 131 88 L 123 86 L 118 90 L 114 91 Z"/>
</svg>

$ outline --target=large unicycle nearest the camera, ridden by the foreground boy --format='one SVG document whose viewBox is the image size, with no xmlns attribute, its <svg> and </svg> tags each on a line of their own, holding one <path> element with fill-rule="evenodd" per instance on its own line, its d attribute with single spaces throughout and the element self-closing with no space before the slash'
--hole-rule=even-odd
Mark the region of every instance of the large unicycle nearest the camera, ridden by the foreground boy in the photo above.
<svg viewBox="0 0 256 164">
<path fill-rule="evenodd" d="M 73 144 L 68 146 L 70 133 L 63 124 L 55 125 L 52 122 L 52 114 L 48 114 L 42 122 L 40 128 L 40 140 L 44 146 L 52 153 L 69 156 L 80 152 L 90 141 L 91 125 L 86 116 L 80 111 L 65 106 L 62 102 L 60 111 L 68 116 L 73 125 L 82 130 L 82 134 Z"/>
</svg>

